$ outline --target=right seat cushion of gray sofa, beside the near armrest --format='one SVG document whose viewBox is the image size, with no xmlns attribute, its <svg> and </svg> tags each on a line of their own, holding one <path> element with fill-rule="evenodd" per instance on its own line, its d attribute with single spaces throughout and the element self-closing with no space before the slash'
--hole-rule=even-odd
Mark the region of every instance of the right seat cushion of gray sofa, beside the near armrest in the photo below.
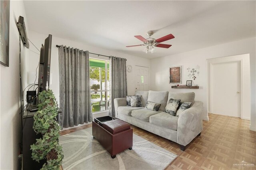
<svg viewBox="0 0 256 170">
<path fill-rule="evenodd" d="M 149 122 L 153 125 L 157 125 L 160 127 L 169 128 L 172 130 L 177 130 L 178 127 L 178 118 L 176 116 L 172 116 L 168 113 L 161 112 L 149 117 Z"/>
</svg>

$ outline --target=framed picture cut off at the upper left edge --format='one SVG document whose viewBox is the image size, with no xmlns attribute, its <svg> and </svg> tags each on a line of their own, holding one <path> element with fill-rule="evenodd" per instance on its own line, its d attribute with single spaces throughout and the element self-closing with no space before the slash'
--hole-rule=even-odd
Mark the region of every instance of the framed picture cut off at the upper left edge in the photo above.
<svg viewBox="0 0 256 170">
<path fill-rule="evenodd" d="M 9 67 L 10 1 L 0 0 L 0 63 Z"/>
</svg>

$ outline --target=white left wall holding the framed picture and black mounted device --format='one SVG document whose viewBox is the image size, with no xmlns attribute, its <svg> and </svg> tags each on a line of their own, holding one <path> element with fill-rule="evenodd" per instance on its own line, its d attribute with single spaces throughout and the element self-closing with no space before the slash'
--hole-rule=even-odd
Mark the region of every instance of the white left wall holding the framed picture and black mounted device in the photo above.
<svg viewBox="0 0 256 170">
<path fill-rule="evenodd" d="M 19 33 L 16 23 L 26 13 L 23 1 L 10 1 L 9 67 L 0 65 L 0 169 L 18 169 L 20 119 Z M 26 24 L 26 28 L 28 25 Z M 28 30 L 27 30 L 28 34 Z M 21 44 L 22 80 L 26 82 L 26 57 L 28 50 Z"/>
</svg>

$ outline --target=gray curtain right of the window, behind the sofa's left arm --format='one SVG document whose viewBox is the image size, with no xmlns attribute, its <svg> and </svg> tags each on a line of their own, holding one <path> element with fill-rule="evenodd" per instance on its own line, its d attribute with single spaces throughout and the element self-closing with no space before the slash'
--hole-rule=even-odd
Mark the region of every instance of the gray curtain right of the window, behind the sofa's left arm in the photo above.
<svg viewBox="0 0 256 170">
<path fill-rule="evenodd" d="M 120 57 L 110 57 L 110 99 L 109 115 L 115 117 L 114 99 L 126 97 L 127 95 L 127 75 L 126 59 Z"/>
</svg>

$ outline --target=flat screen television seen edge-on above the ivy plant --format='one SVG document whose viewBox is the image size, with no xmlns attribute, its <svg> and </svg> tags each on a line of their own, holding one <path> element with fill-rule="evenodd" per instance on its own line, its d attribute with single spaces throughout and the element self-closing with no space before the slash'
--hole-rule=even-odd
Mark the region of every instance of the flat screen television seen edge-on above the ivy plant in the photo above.
<svg viewBox="0 0 256 170">
<path fill-rule="evenodd" d="M 38 93 L 46 90 L 50 85 L 50 63 L 51 63 L 52 35 L 45 39 L 40 50 L 40 63 L 38 74 Z"/>
</svg>

